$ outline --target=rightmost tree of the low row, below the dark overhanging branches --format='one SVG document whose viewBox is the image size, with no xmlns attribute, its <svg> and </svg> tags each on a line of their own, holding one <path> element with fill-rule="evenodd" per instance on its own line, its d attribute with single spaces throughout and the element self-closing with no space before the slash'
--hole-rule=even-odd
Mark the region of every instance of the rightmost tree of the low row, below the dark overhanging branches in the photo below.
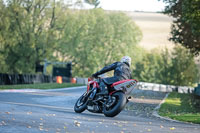
<svg viewBox="0 0 200 133">
<path fill-rule="evenodd" d="M 198 82 L 198 69 L 194 56 L 181 47 L 176 46 L 171 57 L 171 84 L 173 85 L 194 85 Z"/>
</svg>

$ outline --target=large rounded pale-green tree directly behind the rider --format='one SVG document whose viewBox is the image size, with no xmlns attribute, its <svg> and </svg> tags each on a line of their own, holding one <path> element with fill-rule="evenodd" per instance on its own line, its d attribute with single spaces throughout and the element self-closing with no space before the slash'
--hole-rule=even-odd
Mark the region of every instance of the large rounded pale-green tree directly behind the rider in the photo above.
<svg viewBox="0 0 200 133">
<path fill-rule="evenodd" d="M 61 60 L 71 60 L 75 76 L 90 76 L 103 66 L 133 55 L 141 32 L 123 13 L 102 9 L 67 12 L 57 49 Z"/>
</svg>

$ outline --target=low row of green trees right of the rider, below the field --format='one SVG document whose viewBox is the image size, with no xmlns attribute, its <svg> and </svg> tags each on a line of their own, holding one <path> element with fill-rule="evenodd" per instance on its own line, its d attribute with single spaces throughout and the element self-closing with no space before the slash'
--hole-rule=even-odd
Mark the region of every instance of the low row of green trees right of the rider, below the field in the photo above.
<svg viewBox="0 0 200 133">
<path fill-rule="evenodd" d="M 144 82 L 193 86 L 198 82 L 198 70 L 193 55 L 176 46 L 172 53 L 167 49 L 147 53 L 136 63 L 133 77 Z"/>
</svg>

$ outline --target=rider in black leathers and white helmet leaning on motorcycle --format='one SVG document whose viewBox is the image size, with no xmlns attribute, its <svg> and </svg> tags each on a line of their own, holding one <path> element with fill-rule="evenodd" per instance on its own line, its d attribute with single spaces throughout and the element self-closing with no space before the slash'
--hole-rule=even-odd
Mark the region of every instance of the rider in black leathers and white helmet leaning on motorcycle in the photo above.
<svg viewBox="0 0 200 133">
<path fill-rule="evenodd" d="M 101 92 L 99 95 L 105 95 L 108 94 L 108 90 L 106 89 L 107 85 L 111 85 L 117 81 L 131 79 L 131 58 L 129 56 L 122 57 L 120 62 L 115 62 L 111 65 L 105 66 L 100 71 L 94 73 L 92 77 L 98 77 L 98 75 L 104 74 L 106 72 L 109 72 L 111 70 L 114 70 L 114 76 L 103 78 L 100 82 L 100 89 Z"/>
</svg>

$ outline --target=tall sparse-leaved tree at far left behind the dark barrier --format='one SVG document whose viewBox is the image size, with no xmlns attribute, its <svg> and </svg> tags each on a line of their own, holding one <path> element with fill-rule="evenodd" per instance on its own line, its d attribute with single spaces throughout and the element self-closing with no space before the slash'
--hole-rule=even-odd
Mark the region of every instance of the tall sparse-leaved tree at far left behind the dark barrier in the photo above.
<svg viewBox="0 0 200 133">
<path fill-rule="evenodd" d="M 6 72 L 34 73 L 37 64 L 53 57 L 57 37 L 55 0 L 7 0 L 3 5 L 0 52 Z"/>
</svg>

